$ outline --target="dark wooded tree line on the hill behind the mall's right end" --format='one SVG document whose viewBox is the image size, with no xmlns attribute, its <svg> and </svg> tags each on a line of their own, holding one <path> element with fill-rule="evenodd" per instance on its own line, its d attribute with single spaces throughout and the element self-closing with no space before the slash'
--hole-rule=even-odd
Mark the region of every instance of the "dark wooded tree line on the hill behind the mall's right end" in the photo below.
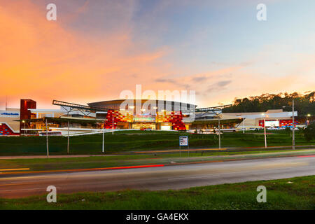
<svg viewBox="0 0 315 224">
<path fill-rule="evenodd" d="M 223 109 L 223 112 L 265 112 L 270 109 L 283 109 L 283 106 L 292 106 L 292 100 L 294 99 L 294 107 L 298 116 L 306 116 L 307 114 L 315 116 L 314 96 L 315 91 L 306 94 L 298 92 L 288 94 L 285 92 L 279 94 L 262 94 L 243 99 L 235 98 L 232 106 Z M 292 111 L 292 108 L 286 107 L 283 111 Z"/>
</svg>

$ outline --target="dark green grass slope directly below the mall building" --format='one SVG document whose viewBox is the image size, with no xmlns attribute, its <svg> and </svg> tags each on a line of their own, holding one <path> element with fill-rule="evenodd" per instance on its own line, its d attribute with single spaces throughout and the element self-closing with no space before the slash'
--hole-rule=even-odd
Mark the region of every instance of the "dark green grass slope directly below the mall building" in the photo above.
<svg viewBox="0 0 315 224">
<path fill-rule="evenodd" d="M 107 153 L 125 151 L 147 151 L 179 148 L 179 136 L 188 135 L 190 148 L 216 148 L 218 137 L 215 134 L 188 134 L 186 132 L 159 131 L 122 131 L 105 134 Z M 290 146 L 292 138 L 285 131 L 272 132 L 267 135 L 268 146 Z M 314 145 L 315 141 L 305 141 L 302 132 L 295 134 L 296 145 Z M 50 155 L 66 154 L 66 137 L 49 137 Z M 264 146 L 262 132 L 242 134 L 225 133 L 221 136 L 224 147 Z M 99 154 L 102 151 L 102 134 L 70 137 L 71 154 Z M 45 155 L 45 137 L 0 137 L 0 155 Z"/>
</svg>

